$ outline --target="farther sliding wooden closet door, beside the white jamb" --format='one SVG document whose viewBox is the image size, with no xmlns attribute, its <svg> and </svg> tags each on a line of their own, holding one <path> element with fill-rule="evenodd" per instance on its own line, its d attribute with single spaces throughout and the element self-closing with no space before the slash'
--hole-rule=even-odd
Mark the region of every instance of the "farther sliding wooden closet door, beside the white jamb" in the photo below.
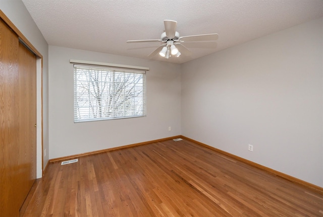
<svg viewBox="0 0 323 217">
<path fill-rule="evenodd" d="M 18 56 L 20 208 L 36 179 L 36 56 L 21 43 Z"/>
</svg>

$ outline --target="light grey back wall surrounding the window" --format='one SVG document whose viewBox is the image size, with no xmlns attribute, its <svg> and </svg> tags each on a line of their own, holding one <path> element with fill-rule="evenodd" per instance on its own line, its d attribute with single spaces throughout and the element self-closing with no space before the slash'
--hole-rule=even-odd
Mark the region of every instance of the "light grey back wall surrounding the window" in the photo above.
<svg viewBox="0 0 323 217">
<path fill-rule="evenodd" d="M 149 67 L 146 73 L 147 116 L 74 123 L 74 80 L 70 59 Z M 49 46 L 49 158 L 179 135 L 180 97 L 178 64 Z M 168 130 L 169 126 L 172 131 Z"/>
</svg>

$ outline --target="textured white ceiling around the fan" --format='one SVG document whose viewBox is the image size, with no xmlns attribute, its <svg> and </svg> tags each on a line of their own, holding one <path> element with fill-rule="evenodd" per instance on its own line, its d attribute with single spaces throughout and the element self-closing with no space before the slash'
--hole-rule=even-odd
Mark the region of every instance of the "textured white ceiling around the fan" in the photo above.
<svg viewBox="0 0 323 217">
<path fill-rule="evenodd" d="M 185 43 L 192 55 L 151 59 L 182 63 L 323 16 L 321 0 L 22 0 L 49 45 L 149 58 L 164 20 L 180 36 L 218 33 L 212 43 Z M 306 40 L 306 39 L 304 39 Z"/>
</svg>

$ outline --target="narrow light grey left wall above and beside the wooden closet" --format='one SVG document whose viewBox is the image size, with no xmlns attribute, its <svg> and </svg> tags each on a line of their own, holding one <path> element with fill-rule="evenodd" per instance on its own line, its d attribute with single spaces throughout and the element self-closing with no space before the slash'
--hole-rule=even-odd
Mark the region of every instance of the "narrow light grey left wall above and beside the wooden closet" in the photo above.
<svg viewBox="0 0 323 217">
<path fill-rule="evenodd" d="M 20 0 L 0 0 L 0 10 L 13 22 L 19 31 L 43 56 L 43 103 L 41 104 L 41 61 L 37 60 L 37 178 L 42 176 L 41 168 L 41 107 L 43 107 L 43 148 L 48 150 L 48 44 Z M 46 166 L 48 155 L 43 157 Z"/>
</svg>

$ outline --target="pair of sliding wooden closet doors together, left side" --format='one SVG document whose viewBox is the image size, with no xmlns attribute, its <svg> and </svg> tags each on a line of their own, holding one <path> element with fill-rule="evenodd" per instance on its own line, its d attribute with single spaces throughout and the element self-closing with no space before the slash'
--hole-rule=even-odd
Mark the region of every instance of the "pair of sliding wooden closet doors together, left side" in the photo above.
<svg viewBox="0 0 323 217">
<path fill-rule="evenodd" d="M 1 20 L 0 216 L 19 216 L 36 178 L 35 76 L 36 57 Z"/>
</svg>

